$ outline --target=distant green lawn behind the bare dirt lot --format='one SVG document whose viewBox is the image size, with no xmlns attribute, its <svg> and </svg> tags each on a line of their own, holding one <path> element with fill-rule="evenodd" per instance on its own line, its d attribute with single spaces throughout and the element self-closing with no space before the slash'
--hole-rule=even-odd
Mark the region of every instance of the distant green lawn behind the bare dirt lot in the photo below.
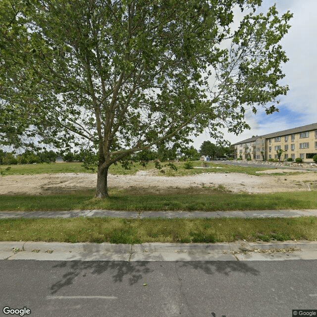
<svg viewBox="0 0 317 317">
<path fill-rule="evenodd" d="M 23 165 L 0 165 L 2 175 L 26 175 L 26 174 L 42 174 L 42 173 L 91 173 L 91 171 L 81 166 L 80 162 L 63 162 L 63 163 L 43 163 L 43 164 L 23 164 Z M 166 163 L 162 163 L 163 165 Z M 183 176 L 200 173 L 247 173 L 250 175 L 256 175 L 256 171 L 262 171 L 267 168 L 265 167 L 243 167 L 234 166 L 228 164 L 213 164 L 208 163 L 209 168 L 192 168 L 185 169 L 184 162 L 175 162 L 177 171 L 170 169 L 169 167 L 163 167 L 166 176 Z M 202 161 L 193 161 L 194 166 L 200 167 Z M 9 169 L 7 169 L 9 167 Z M 120 164 L 111 165 L 109 168 L 110 174 L 135 174 L 138 170 L 149 170 L 155 169 L 153 162 L 149 162 L 146 167 L 141 166 L 139 163 L 135 163 L 131 169 L 124 169 Z M 157 170 L 157 175 L 162 173 Z"/>
</svg>

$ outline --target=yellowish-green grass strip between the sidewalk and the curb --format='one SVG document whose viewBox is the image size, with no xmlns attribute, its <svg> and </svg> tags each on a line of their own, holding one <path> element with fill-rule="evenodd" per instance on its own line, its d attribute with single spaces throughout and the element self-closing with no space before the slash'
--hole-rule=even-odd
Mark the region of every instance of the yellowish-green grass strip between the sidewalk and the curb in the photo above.
<svg viewBox="0 0 317 317">
<path fill-rule="evenodd" d="M 0 219 L 0 241 L 215 243 L 317 240 L 317 218 Z"/>
</svg>

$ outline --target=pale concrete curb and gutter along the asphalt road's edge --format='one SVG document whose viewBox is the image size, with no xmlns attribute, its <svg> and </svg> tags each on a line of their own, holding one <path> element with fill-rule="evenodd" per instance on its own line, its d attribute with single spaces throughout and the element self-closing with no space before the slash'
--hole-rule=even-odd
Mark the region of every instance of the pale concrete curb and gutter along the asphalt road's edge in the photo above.
<svg viewBox="0 0 317 317">
<path fill-rule="evenodd" d="M 37 261 L 284 261 L 317 259 L 317 242 L 60 243 L 0 242 L 0 260 Z"/>
</svg>

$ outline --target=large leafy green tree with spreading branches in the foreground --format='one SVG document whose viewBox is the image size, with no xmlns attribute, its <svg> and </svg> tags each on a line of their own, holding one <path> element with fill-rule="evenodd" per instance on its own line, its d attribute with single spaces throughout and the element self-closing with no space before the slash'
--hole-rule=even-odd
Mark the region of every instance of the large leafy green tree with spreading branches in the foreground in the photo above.
<svg viewBox="0 0 317 317">
<path fill-rule="evenodd" d="M 246 109 L 271 113 L 288 90 L 279 42 L 292 14 L 257 13 L 261 0 L 0 4 L 0 142 L 95 149 L 97 197 L 111 164 L 206 128 L 239 133 Z"/>
</svg>

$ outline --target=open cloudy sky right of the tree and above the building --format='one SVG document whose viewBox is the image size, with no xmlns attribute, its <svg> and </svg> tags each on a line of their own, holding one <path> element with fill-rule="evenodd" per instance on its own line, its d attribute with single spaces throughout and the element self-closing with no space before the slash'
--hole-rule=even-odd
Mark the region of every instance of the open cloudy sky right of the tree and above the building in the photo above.
<svg viewBox="0 0 317 317">
<path fill-rule="evenodd" d="M 317 122 L 317 0 L 264 0 L 261 11 L 266 12 L 275 2 L 279 14 L 287 10 L 294 14 L 291 28 L 281 41 L 289 61 L 283 65 L 286 76 L 280 83 L 289 85 L 290 90 L 286 96 L 280 96 L 279 112 L 248 115 L 251 130 L 238 136 L 224 133 L 232 144 L 252 135 Z M 199 149 L 205 140 L 211 140 L 208 133 L 195 138 L 194 147 Z"/>
</svg>

